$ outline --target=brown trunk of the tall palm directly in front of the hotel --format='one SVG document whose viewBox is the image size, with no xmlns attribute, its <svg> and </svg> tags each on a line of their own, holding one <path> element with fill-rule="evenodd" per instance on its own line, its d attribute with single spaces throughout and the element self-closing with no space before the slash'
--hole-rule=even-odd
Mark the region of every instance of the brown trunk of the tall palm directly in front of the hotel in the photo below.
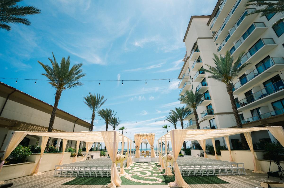
<svg viewBox="0 0 284 188">
<path fill-rule="evenodd" d="M 232 109 L 233 109 L 233 113 L 234 113 L 234 116 L 235 116 L 235 120 L 236 120 L 236 123 L 237 123 L 237 127 L 238 128 L 243 128 L 243 124 L 241 122 L 241 118 L 239 116 L 239 112 L 238 112 L 238 109 L 237 109 L 237 105 L 235 103 L 235 99 L 234 99 L 234 96 L 233 96 L 233 88 L 231 85 L 227 85 L 227 92 L 229 94 L 229 97 L 230 97 L 230 101 L 231 101 L 231 105 L 232 105 Z M 248 149 L 248 144 L 247 144 L 247 141 L 245 139 L 245 136 L 243 133 L 240 134 L 240 137 L 241 137 L 241 142 L 242 142 L 242 148 L 243 150 L 245 149 Z"/>
</svg>

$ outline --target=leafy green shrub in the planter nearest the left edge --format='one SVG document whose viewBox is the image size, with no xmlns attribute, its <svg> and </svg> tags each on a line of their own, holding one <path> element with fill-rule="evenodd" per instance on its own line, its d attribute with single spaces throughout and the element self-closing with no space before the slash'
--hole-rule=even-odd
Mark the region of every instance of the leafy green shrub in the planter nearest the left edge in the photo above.
<svg viewBox="0 0 284 188">
<path fill-rule="evenodd" d="M 29 147 L 18 145 L 10 154 L 9 164 L 27 162 L 27 157 L 32 154 Z"/>
</svg>

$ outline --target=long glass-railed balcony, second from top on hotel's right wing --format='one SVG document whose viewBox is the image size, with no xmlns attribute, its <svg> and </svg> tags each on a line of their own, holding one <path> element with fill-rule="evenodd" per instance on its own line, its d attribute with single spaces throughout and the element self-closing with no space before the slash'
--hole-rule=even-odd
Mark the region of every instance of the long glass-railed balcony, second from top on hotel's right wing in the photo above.
<svg viewBox="0 0 284 188">
<path fill-rule="evenodd" d="M 227 31 L 234 26 L 234 23 L 240 18 L 240 15 L 245 11 L 246 0 L 238 0 L 227 17 L 224 19 L 223 24 L 214 36 L 215 43 L 221 43 L 227 35 Z"/>
</svg>

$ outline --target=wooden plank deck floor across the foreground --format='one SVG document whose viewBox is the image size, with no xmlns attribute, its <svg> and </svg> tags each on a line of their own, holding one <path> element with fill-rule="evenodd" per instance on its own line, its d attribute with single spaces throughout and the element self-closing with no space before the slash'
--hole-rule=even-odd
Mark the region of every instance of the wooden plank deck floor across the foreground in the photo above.
<svg viewBox="0 0 284 188">
<path fill-rule="evenodd" d="M 74 178 L 53 177 L 53 170 L 45 172 L 40 176 L 24 176 L 21 178 L 15 178 L 6 180 L 5 183 L 13 183 L 13 187 L 52 187 L 52 188 L 103 188 L 103 185 L 62 185 L 67 181 L 71 181 Z M 229 182 L 230 184 L 199 184 L 190 185 L 191 188 L 255 188 L 260 187 L 261 181 L 281 181 L 279 178 L 270 177 L 267 178 L 267 174 L 255 174 L 251 170 L 246 170 L 247 175 L 242 176 L 218 176 L 220 179 Z M 121 188 L 168 188 L 166 185 L 122 185 Z"/>
</svg>

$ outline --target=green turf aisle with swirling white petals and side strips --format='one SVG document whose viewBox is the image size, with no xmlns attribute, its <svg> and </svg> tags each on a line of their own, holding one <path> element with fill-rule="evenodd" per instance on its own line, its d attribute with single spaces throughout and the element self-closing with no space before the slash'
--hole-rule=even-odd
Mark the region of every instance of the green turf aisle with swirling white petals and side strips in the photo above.
<svg viewBox="0 0 284 188">
<path fill-rule="evenodd" d="M 156 163 L 134 163 L 132 169 L 125 170 L 131 176 L 121 176 L 121 185 L 168 185 L 169 182 L 175 181 L 174 176 L 162 176 L 162 172 L 158 172 Z M 133 169 L 134 168 L 134 169 Z M 141 177 L 142 176 L 142 177 Z M 133 179 L 133 180 L 131 180 Z M 219 184 L 228 183 L 219 179 L 217 176 L 184 176 L 183 179 L 188 184 Z M 137 181 L 152 181 L 158 183 L 141 183 Z M 107 185 L 110 183 L 110 177 L 79 177 L 72 181 L 63 183 L 64 185 Z"/>
</svg>

